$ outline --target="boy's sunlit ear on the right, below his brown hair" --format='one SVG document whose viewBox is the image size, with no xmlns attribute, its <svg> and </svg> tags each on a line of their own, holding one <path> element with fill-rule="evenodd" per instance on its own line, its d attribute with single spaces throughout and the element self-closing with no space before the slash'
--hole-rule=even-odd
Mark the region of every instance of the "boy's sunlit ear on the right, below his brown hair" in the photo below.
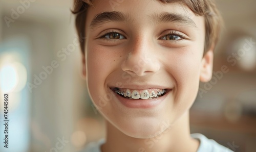
<svg viewBox="0 0 256 152">
<path fill-rule="evenodd" d="M 202 59 L 201 70 L 200 70 L 201 82 L 208 82 L 211 80 L 213 63 L 214 63 L 214 46 L 211 47 L 206 52 L 206 54 Z"/>
</svg>

